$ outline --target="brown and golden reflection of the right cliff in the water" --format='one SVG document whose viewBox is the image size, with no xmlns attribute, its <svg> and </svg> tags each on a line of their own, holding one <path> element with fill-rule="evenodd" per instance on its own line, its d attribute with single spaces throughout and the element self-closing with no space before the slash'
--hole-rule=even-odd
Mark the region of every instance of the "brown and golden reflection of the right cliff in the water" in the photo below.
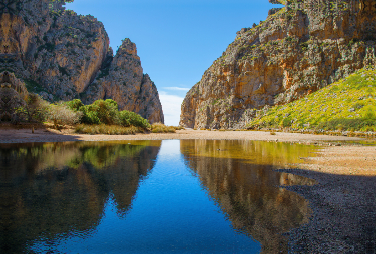
<svg viewBox="0 0 376 254">
<path fill-rule="evenodd" d="M 314 181 L 272 169 L 293 162 L 309 148 L 280 142 L 250 143 L 181 140 L 180 150 L 235 230 L 261 242 L 263 253 L 287 251 L 286 239 L 280 233 L 308 222 L 310 209 L 302 197 L 273 185 L 311 185 Z"/>
</svg>

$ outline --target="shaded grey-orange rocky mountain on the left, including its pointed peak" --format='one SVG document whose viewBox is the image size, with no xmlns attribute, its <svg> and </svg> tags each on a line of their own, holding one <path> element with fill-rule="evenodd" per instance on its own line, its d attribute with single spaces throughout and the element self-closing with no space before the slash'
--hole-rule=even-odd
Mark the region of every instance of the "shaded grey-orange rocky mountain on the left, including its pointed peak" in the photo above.
<svg viewBox="0 0 376 254">
<path fill-rule="evenodd" d="M 125 39 L 114 56 L 102 22 L 65 10 L 62 4 L 65 1 L 2 4 L 0 70 L 14 72 L 30 92 L 46 100 L 113 99 L 120 110 L 163 123 L 158 92 L 143 74 L 135 44 Z"/>
</svg>

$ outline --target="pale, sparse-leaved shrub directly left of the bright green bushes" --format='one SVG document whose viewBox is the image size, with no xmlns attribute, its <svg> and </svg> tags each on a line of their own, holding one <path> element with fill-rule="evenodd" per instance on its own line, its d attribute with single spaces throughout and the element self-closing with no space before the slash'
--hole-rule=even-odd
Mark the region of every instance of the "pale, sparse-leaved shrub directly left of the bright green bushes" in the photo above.
<svg viewBox="0 0 376 254">
<path fill-rule="evenodd" d="M 64 103 L 56 103 L 50 105 L 49 120 L 57 129 L 61 129 L 66 125 L 76 124 L 82 117 L 81 112 L 74 112 Z"/>
</svg>

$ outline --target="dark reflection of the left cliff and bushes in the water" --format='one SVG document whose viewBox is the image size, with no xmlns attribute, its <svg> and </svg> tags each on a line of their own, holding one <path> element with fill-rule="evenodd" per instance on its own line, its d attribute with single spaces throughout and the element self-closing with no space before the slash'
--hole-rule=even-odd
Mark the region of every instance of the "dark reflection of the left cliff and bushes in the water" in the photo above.
<svg viewBox="0 0 376 254">
<path fill-rule="evenodd" d="M 99 224 L 109 195 L 123 217 L 160 144 L 1 144 L 1 248 L 21 253 L 38 237 L 51 246 L 61 235 L 85 237 Z"/>
</svg>

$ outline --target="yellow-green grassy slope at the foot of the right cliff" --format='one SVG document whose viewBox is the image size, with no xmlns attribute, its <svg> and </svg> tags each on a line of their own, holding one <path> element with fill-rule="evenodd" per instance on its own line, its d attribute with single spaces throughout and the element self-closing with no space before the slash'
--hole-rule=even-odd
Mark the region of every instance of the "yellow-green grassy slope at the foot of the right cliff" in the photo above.
<svg viewBox="0 0 376 254">
<path fill-rule="evenodd" d="M 376 130 L 376 72 L 361 69 L 294 102 L 275 106 L 247 127 Z"/>
</svg>

